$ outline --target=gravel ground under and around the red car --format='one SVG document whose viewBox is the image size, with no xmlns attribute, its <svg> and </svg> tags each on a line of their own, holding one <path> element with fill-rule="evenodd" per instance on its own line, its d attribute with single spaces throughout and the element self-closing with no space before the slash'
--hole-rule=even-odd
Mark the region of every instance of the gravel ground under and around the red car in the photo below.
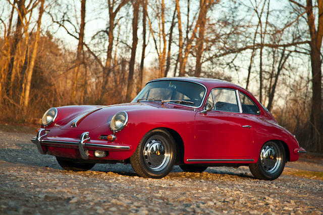
<svg viewBox="0 0 323 215">
<path fill-rule="evenodd" d="M 254 179 L 247 167 L 209 167 L 163 179 L 138 177 L 131 165 L 97 164 L 63 170 L 40 155 L 33 134 L 0 131 L 0 214 L 322 214 L 323 181 L 296 177 L 323 172 L 321 158 L 287 163 L 274 181 Z"/>
</svg>

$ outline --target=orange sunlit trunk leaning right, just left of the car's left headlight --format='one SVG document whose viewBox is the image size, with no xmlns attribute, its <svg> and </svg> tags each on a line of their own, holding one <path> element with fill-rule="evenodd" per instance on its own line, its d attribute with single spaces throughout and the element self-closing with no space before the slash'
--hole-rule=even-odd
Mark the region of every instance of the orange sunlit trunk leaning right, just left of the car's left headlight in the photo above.
<svg viewBox="0 0 323 215">
<path fill-rule="evenodd" d="M 32 55 L 30 58 L 26 78 L 25 78 L 25 95 L 24 95 L 24 105 L 23 105 L 23 110 L 26 113 L 28 103 L 29 103 L 29 93 L 30 93 L 30 85 L 31 85 L 31 77 L 35 65 L 35 59 L 36 59 L 36 54 L 37 54 L 37 46 L 38 46 L 38 40 L 39 40 L 39 34 L 40 34 L 40 25 L 41 25 L 41 17 L 44 12 L 44 1 L 45 0 L 40 0 L 40 8 L 39 8 L 39 16 L 38 16 L 38 21 L 37 21 L 37 31 L 36 31 L 36 37 L 35 37 L 35 42 L 34 42 L 34 47 L 32 50 Z"/>
</svg>

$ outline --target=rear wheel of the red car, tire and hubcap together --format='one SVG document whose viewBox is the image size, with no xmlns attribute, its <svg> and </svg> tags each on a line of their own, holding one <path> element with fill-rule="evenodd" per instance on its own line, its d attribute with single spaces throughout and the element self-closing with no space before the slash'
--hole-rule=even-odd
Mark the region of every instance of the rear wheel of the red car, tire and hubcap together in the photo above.
<svg viewBox="0 0 323 215">
<path fill-rule="evenodd" d="M 249 164 L 249 169 L 257 179 L 274 180 L 282 174 L 285 163 L 284 146 L 278 142 L 268 141 L 262 146 L 257 163 Z"/>
</svg>

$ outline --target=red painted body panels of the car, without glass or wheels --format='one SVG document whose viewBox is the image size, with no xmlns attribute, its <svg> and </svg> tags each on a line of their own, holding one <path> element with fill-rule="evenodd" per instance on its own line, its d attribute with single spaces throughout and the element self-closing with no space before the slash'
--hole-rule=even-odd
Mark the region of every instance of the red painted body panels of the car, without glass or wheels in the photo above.
<svg viewBox="0 0 323 215">
<path fill-rule="evenodd" d="M 286 149 L 288 161 L 296 161 L 299 147 L 295 137 L 285 128 L 278 125 L 272 114 L 266 111 L 254 96 L 245 89 L 232 83 L 202 78 L 166 78 L 160 80 L 182 80 L 198 82 L 207 89 L 200 108 L 186 107 L 173 103 L 134 102 L 111 106 L 64 106 L 58 107 L 58 116 L 50 125 L 43 127 L 48 132 L 43 140 L 59 140 L 77 142 L 83 132 L 88 131 L 93 144 L 109 144 L 128 146 L 130 149 L 102 149 L 108 154 L 104 158 L 95 158 L 93 150 L 99 148 L 86 147 L 89 160 L 120 161 L 132 156 L 142 137 L 155 128 L 165 128 L 176 134 L 176 141 L 182 147 L 183 160 L 186 164 L 221 164 L 255 163 L 259 158 L 262 145 L 269 140 L 281 141 Z M 207 96 L 214 88 L 237 89 L 253 100 L 260 110 L 259 115 L 233 113 L 211 110 L 201 113 Z M 71 127 L 71 121 L 90 110 L 99 109 L 84 117 L 77 127 Z M 114 141 L 99 139 L 100 135 L 113 134 L 110 121 L 119 111 L 128 113 L 128 123 L 116 132 Z M 242 127 L 251 125 L 251 128 Z M 77 146 L 42 144 L 46 154 L 59 157 L 81 159 Z M 188 159 L 212 159 L 218 161 L 190 161 Z M 223 161 L 222 161 L 223 160 Z M 233 160 L 233 161 L 230 161 Z M 235 160 L 235 161 L 234 161 Z M 237 161 L 238 160 L 238 161 Z"/>
</svg>

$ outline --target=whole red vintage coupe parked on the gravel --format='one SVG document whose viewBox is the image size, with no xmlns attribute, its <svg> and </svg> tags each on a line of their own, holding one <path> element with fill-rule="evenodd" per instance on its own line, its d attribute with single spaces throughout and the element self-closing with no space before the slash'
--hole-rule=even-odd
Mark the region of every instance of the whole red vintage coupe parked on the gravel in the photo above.
<svg viewBox="0 0 323 215">
<path fill-rule="evenodd" d="M 205 78 L 152 80 L 126 104 L 50 108 L 32 141 L 66 170 L 122 162 L 151 178 L 173 165 L 249 166 L 255 178 L 273 180 L 306 153 L 250 92 Z"/>
</svg>

